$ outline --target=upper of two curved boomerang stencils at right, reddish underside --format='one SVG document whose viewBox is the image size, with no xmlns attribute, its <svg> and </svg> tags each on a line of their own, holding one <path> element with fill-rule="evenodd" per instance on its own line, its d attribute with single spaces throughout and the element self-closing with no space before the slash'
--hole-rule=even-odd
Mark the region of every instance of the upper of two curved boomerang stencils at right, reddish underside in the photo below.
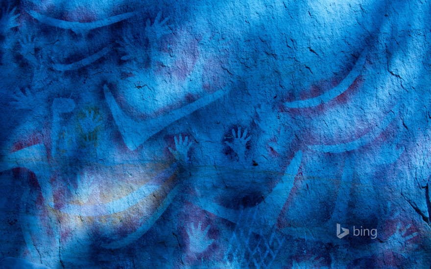
<svg viewBox="0 0 431 269">
<path fill-rule="evenodd" d="M 368 55 L 368 49 L 364 49 L 360 54 L 358 60 L 356 61 L 355 66 L 352 68 L 349 74 L 337 86 L 335 86 L 331 90 L 328 90 L 317 97 L 313 97 L 305 100 L 285 102 L 284 106 L 290 109 L 303 109 L 303 108 L 316 107 L 333 100 L 335 97 L 345 92 L 350 87 L 350 85 L 353 84 L 353 82 L 359 76 L 363 68 L 367 55 Z"/>
</svg>

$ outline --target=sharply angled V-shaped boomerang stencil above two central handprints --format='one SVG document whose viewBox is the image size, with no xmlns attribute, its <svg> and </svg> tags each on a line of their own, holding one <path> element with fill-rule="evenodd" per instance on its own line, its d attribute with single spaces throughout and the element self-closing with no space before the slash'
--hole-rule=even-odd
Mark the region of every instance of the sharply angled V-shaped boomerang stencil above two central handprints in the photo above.
<svg viewBox="0 0 431 269">
<path fill-rule="evenodd" d="M 163 116 L 146 119 L 144 121 L 136 121 L 127 116 L 120 109 L 117 101 L 108 89 L 108 86 L 104 85 L 103 90 L 105 91 L 106 101 L 108 102 L 112 116 L 114 117 L 115 123 L 120 130 L 121 136 L 123 137 L 124 143 L 132 151 L 138 148 L 148 138 L 162 131 L 169 124 L 191 114 L 192 112 L 195 112 L 202 107 L 211 104 L 223 95 L 227 94 L 229 91 L 217 90 L 215 93 L 201 97 L 200 99 L 182 108 L 168 112 Z"/>
</svg>

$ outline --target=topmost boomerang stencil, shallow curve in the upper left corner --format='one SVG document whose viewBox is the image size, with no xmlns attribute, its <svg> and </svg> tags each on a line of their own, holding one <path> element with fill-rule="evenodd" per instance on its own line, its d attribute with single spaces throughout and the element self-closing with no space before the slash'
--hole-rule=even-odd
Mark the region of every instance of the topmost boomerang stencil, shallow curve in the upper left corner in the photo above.
<svg viewBox="0 0 431 269">
<path fill-rule="evenodd" d="M 28 14 L 30 14 L 31 17 L 38 20 L 39 22 L 42 22 L 52 27 L 70 29 L 73 32 L 84 32 L 84 31 L 90 31 L 96 28 L 108 26 L 110 24 L 121 22 L 123 20 L 127 20 L 130 17 L 133 17 L 134 15 L 136 15 L 137 12 L 127 12 L 127 13 L 115 15 L 103 20 L 99 20 L 96 22 L 68 22 L 68 21 L 58 20 L 55 18 L 42 15 L 33 10 L 28 11 Z"/>
</svg>

